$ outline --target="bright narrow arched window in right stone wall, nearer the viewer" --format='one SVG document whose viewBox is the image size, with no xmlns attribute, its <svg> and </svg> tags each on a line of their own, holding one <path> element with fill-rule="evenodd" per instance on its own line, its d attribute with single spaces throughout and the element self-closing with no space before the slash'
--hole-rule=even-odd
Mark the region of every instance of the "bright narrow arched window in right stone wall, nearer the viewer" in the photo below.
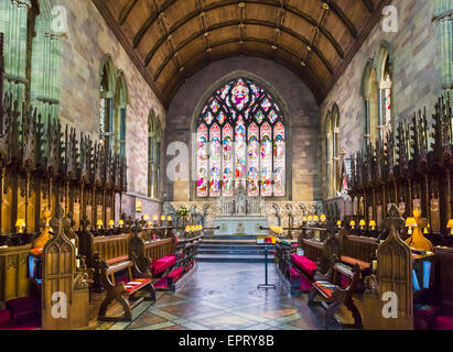
<svg viewBox="0 0 453 352">
<path fill-rule="evenodd" d="M 378 80 L 378 122 L 380 136 L 386 139 L 386 132 L 391 130 L 393 103 L 392 103 L 392 62 L 389 45 L 384 43 L 375 58 Z"/>
</svg>

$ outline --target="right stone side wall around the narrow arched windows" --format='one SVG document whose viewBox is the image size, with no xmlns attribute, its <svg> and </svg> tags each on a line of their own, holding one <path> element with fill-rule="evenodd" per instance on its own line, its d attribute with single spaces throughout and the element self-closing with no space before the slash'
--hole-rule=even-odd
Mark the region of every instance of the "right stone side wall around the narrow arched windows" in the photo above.
<svg viewBox="0 0 453 352">
<path fill-rule="evenodd" d="M 395 121 L 410 118 L 416 109 L 427 106 L 433 109 L 441 95 L 440 44 L 433 19 L 434 1 L 395 0 L 398 10 L 398 32 L 386 33 L 381 23 L 371 31 L 345 73 L 321 105 L 325 118 L 334 102 L 339 108 L 341 148 L 348 156 L 364 142 L 364 101 L 360 95 L 362 78 L 368 59 L 373 59 L 386 41 L 393 55 L 393 108 Z M 325 136 L 321 135 L 322 145 Z M 322 151 L 323 164 L 325 152 Z M 323 172 L 323 185 L 325 185 Z"/>
</svg>

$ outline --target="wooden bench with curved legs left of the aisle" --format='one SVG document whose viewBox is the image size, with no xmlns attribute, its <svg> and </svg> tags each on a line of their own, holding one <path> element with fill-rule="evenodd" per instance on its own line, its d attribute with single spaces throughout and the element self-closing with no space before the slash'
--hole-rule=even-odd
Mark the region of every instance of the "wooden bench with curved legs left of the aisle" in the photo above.
<svg viewBox="0 0 453 352">
<path fill-rule="evenodd" d="M 109 261 L 101 260 L 100 278 L 104 288 L 107 289 L 106 298 L 99 308 L 99 320 L 132 320 L 132 309 L 145 300 L 155 301 L 155 290 L 152 278 L 148 274 L 141 273 L 133 261 L 126 257 L 117 257 Z M 120 275 L 116 275 L 120 274 Z M 136 297 L 136 293 L 143 290 L 150 294 L 149 297 Z M 117 300 L 122 309 L 121 318 L 106 317 L 108 306 Z"/>
</svg>

